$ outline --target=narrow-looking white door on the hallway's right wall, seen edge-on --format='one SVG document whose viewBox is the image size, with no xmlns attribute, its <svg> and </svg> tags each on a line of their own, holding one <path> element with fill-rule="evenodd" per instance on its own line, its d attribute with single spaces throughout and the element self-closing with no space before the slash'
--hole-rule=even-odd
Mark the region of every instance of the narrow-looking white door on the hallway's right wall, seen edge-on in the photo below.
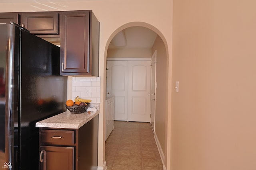
<svg viewBox="0 0 256 170">
<path fill-rule="evenodd" d="M 150 124 L 155 131 L 155 113 L 156 113 L 156 51 L 151 57 L 151 109 L 150 109 Z"/>
</svg>

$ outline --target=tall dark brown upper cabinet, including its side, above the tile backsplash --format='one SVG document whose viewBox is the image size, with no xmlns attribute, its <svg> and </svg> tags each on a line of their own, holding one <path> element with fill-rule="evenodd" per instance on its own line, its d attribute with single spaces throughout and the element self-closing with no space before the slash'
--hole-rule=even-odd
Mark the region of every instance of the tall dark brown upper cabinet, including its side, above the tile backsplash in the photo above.
<svg viewBox="0 0 256 170">
<path fill-rule="evenodd" d="M 60 12 L 61 75 L 98 76 L 99 21 L 86 11 Z"/>
</svg>

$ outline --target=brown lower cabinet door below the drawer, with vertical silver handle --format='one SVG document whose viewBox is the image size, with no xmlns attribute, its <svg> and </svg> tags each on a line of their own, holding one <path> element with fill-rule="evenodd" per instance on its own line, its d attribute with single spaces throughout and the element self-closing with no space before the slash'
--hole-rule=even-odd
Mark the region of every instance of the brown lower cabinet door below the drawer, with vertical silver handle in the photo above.
<svg viewBox="0 0 256 170">
<path fill-rule="evenodd" d="M 74 170 L 74 147 L 40 147 L 41 170 Z"/>
</svg>

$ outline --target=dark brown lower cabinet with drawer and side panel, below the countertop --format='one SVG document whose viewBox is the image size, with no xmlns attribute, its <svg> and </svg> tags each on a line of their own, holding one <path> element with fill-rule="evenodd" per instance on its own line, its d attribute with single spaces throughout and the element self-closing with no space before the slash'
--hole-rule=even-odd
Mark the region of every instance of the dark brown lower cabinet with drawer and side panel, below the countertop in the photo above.
<svg viewBox="0 0 256 170">
<path fill-rule="evenodd" d="M 97 170 L 98 115 L 79 129 L 40 127 L 40 170 Z"/>
</svg>

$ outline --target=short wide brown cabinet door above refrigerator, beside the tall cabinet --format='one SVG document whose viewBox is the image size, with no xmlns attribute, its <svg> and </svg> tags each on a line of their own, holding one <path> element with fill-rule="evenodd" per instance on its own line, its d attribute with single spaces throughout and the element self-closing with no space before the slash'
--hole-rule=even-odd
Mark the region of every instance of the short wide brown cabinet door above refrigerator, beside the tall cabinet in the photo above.
<svg viewBox="0 0 256 170">
<path fill-rule="evenodd" d="M 23 12 L 20 23 L 32 34 L 58 34 L 58 12 Z"/>
</svg>

